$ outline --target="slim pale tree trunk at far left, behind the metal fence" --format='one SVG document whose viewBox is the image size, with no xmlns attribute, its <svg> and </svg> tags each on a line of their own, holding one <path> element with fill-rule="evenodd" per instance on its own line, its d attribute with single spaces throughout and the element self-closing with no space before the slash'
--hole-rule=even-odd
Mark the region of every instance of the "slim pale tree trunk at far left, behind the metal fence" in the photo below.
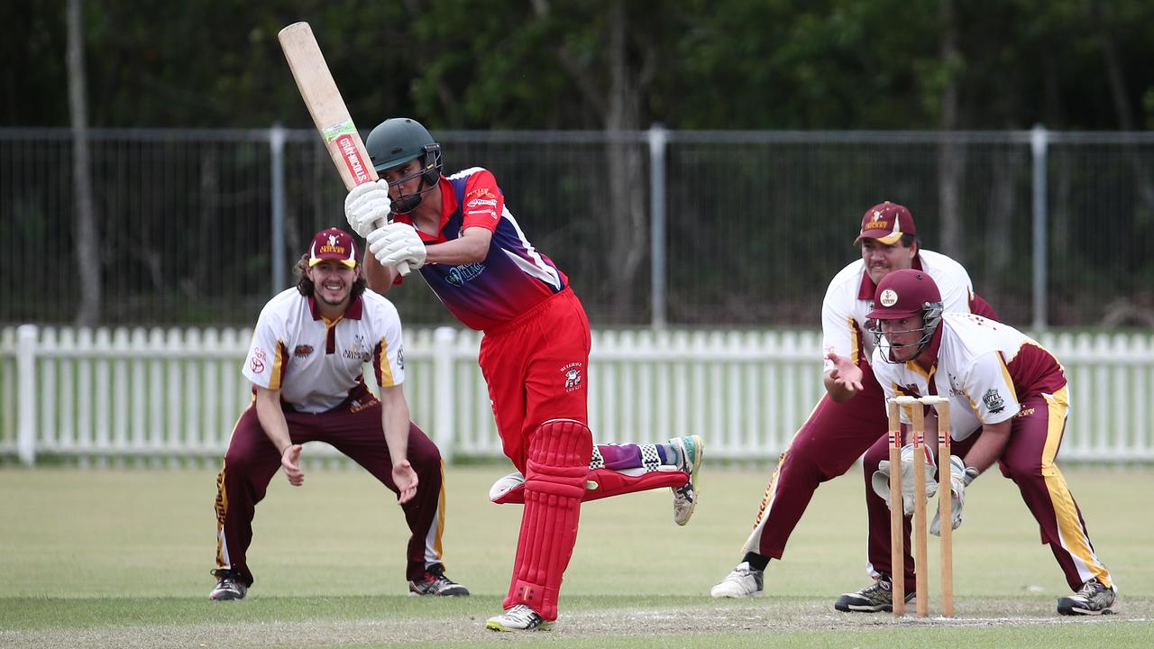
<svg viewBox="0 0 1154 649">
<path fill-rule="evenodd" d="M 73 189 L 76 207 L 73 244 L 80 307 L 76 324 L 93 326 L 100 320 L 100 241 L 92 200 L 92 177 L 88 150 L 88 113 L 84 106 L 84 40 L 81 33 L 83 0 L 68 0 L 68 106 L 73 127 Z"/>
</svg>

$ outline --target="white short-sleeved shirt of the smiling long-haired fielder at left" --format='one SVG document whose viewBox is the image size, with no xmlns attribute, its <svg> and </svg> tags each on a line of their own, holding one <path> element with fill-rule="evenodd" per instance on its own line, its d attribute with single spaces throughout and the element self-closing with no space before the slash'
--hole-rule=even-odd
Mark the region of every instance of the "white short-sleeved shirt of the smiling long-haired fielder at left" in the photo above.
<svg viewBox="0 0 1154 649">
<path fill-rule="evenodd" d="M 364 385 L 372 363 L 381 387 L 405 380 L 400 318 L 384 297 L 366 290 L 329 321 L 313 298 L 282 291 L 261 311 L 241 373 L 254 385 L 280 390 L 301 412 L 324 412 Z"/>
</svg>

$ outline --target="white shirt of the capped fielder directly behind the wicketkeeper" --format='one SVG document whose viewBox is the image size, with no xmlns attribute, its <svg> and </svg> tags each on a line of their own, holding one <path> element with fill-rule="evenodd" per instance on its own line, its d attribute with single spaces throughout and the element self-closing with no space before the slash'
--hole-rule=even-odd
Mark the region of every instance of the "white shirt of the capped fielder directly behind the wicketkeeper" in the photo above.
<svg viewBox="0 0 1154 649">
<path fill-rule="evenodd" d="M 957 261 L 934 251 L 920 249 L 913 268 L 929 274 L 942 293 L 945 313 L 969 313 L 974 285 L 969 274 Z M 848 357 L 855 365 L 874 356 L 874 322 L 865 314 L 874 308 L 877 285 L 865 273 L 864 260 L 859 259 L 842 268 L 830 282 L 822 303 L 822 348 L 832 349 L 838 356 Z M 825 361 L 824 372 L 833 370 Z"/>
</svg>

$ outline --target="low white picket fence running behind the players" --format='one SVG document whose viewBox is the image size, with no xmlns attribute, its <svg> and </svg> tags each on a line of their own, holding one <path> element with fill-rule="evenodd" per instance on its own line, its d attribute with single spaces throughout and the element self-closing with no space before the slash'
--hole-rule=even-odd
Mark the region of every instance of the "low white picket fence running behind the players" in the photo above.
<svg viewBox="0 0 1154 649">
<path fill-rule="evenodd" d="M 250 400 L 247 329 L 0 329 L 0 457 L 218 460 Z M 1072 410 L 1063 460 L 1154 461 L 1154 338 L 1043 334 Z M 501 454 L 477 367 L 480 336 L 405 333 L 413 420 L 442 453 Z M 598 441 L 707 435 L 711 460 L 774 458 L 823 394 L 817 331 L 594 331 Z M 372 380 L 372 372 L 366 372 Z M 323 453 L 322 453 L 323 455 Z"/>
</svg>

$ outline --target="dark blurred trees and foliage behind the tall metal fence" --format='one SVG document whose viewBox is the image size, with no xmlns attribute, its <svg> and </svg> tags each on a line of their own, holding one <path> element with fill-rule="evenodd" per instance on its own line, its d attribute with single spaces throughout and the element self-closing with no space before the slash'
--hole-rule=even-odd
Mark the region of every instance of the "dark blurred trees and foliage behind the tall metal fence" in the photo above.
<svg viewBox="0 0 1154 649">
<path fill-rule="evenodd" d="M 300 20 L 362 132 L 411 115 L 447 171 L 494 171 L 594 326 L 653 321 L 653 125 L 669 323 L 816 326 L 885 199 L 1007 321 L 1036 322 L 1025 129 L 1041 124 L 1046 320 L 1154 327 L 1148 0 L 10 0 L 0 323 L 250 323 L 286 285 L 273 253 L 343 222 L 277 42 Z M 1080 132 L 1096 135 L 1063 139 Z M 29 282 L 44 260 L 59 271 Z M 390 298 L 406 322 L 448 320 L 425 289 Z"/>
</svg>

